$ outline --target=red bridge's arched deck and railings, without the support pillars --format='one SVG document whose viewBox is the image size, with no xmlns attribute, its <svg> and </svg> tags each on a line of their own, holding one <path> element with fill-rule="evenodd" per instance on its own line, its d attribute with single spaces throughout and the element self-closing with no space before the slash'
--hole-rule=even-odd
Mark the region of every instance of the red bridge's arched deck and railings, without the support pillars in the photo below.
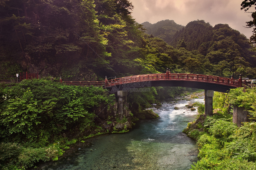
<svg viewBox="0 0 256 170">
<path fill-rule="evenodd" d="M 62 82 L 62 80 L 60 79 Z M 141 88 L 149 86 L 182 86 L 196 89 L 214 90 L 227 92 L 230 89 L 242 87 L 242 77 L 239 79 L 218 77 L 213 75 L 185 74 L 185 73 L 166 73 L 132 75 L 121 78 L 105 77 L 105 81 L 65 81 L 65 84 L 80 86 L 103 86 L 110 92 L 118 90 L 129 91 L 131 88 Z"/>
</svg>

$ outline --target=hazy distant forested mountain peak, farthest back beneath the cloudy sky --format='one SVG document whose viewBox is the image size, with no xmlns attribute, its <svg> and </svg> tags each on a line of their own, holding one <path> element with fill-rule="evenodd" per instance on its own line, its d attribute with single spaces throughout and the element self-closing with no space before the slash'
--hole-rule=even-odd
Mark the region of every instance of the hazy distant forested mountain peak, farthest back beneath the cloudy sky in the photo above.
<svg viewBox="0 0 256 170">
<path fill-rule="evenodd" d="M 152 34 L 154 37 L 161 38 L 168 44 L 173 39 L 174 34 L 184 27 L 175 23 L 173 20 L 162 20 L 154 24 L 144 22 L 141 23 L 141 25 L 143 25 L 143 28 L 146 29 L 146 34 Z"/>
</svg>

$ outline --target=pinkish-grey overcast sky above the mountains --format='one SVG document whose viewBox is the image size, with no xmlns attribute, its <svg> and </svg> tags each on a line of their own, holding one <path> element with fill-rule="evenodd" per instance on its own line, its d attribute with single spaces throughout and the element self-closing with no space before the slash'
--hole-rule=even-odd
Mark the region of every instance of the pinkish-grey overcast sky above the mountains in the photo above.
<svg viewBox="0 0 256 170">
<path fill-rule="evenodd" d="M 138 23 L 148 21 L 157 23 L 162 20 L 174 20 L 186 26 L 197 19 L 209 22 L 211 26 L 218 23 L 228 24 L 247 38 L 251 37 L 253 28 L 244 28 L 250 21 L 250 13 L 240 10 L 243 0 L 130 0 L 134 9 L 132 16 Z M 250 9 L 249 11 L 252 11 Z"/>
</svg>

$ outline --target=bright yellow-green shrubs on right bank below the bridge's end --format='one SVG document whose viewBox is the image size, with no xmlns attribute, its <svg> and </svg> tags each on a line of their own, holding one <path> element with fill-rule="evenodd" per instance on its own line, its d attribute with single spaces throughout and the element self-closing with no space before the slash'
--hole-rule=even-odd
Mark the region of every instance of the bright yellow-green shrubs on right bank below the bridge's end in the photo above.
<svg viewBox="0 0 256 170">
<path fill-rule="evenodd" d="M 216 108 L 225 107 L 227 103 L 240 104 L 252 107 L 255 89 L 232 89 L 228 95 L 215 93 Z M 246 104 L 246 105 L 245 105 Z M 201 135 L 197 144 L 199 146 L 199 161 L 191 169 L 255 169 L 256 168 L 256 124 L 243 122 L 237 127 L 232 123 L 232 116 L 217 113 L 207 117 L 204 122 L 207 133 Z"/>
</svg>

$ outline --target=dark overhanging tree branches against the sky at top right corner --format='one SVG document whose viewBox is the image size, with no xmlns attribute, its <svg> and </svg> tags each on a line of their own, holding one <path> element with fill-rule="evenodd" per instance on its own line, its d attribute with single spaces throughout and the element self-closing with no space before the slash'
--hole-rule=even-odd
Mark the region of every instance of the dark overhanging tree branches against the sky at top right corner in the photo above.
<svg viewBox="0 0 256 170">
<path fill-rule="evenodd" d="M 241 10 L 244 10 L 245 12 L 247 12 L 249 10 L 250 7 L 254 7 L 256 10 L 256 0 L 244 0 L 241 4 Z M 247 21 L 246 22 L 246 27 L 247 28 L 253 28 L 253 34 L 250 37 L 250 41 L 253 44 L 256 44 L 256 11 L 255 12 L 248 12 L 251 13 L 252 16 L 252 21 Z"/>
</svg>

